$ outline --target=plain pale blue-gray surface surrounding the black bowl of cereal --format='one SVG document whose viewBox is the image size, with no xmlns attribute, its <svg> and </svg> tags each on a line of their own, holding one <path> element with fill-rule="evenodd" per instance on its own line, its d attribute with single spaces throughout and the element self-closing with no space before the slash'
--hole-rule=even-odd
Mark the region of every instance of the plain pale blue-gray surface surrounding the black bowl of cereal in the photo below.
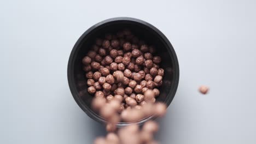
<svg viewBox="0 0 256 144">
<path fill-rule="evenodd" d="M 177 52 L 180 81 L 161 143 L 256 143 L 256 2 L 0 1 L 0 143 L 91 143 L 104 129 L 69 92 L 67 62 L 110 17 L 152 23 Z M 207 95 L 197 92 L 208 85 Z"/>
</svg>

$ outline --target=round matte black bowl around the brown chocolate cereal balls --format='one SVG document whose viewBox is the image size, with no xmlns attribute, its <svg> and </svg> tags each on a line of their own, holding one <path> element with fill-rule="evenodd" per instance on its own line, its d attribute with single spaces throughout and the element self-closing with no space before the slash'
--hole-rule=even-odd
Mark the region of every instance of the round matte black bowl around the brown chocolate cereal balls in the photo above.
<svg viewBox="0 0 256 144">
<path fill-rule="evenodd" d="M 179 82 L 178 59 L 170 41 L 164 34 L 149 23 L 130 17 L 104 20 L 89 28 L 78 39 L 69 56 L 67 69 L 69 88 L 75 101 L 89 117 L 97 122 L 105 123 L 106 121 L 91 109 L 92 96 L 87 91 L 85 72 L 82 69 L 82 58 L 86 55 L 97 37 L 104 33 L 113 33 L 124 28 L 129 28 L 133 34 L 137 35 L 140 39 L 144 39 L 147 44 L 155 45 L 157 48 L 156 55 L 162 58 L 160 67 L 165 70 L 165 75 L 162 86 L 159 88 L 160 95 L 156 100 L 162 101 L 168 106 L 177 91 Z M 138 124 L 142 124 L 152 118 L 154 117 L 144 118 Z M 118 123 L 117 125 L 123 126 L 127 124 Z"/>
</svg>

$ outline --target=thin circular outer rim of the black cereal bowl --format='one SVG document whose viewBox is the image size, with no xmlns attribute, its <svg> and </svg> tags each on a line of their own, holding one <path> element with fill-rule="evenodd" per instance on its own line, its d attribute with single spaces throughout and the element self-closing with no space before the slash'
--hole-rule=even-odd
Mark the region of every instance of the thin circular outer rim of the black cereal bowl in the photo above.
<svg viewBox="0 0 256 144">
<path fill-rule="evenodd" d="M 75 91 L 75 85 L 74 85 L 74 79 L 72 78 L 73 76 L 73 62 L 74 62 L 74 53 L 75 51 L 77 51 L 77 49 L 79 49 L 79 45 L 83 43 L 83 39 L 86 37 L 86 35 L 88 35 L 91 31 L 93 31 L 95 28 L 97 27 L 100 27 L 100 26 L 103 26 L 103 25 L 106 25 L 107 23 L 109 22 L 121 22 L 121 21 L 130 21 L 130 22 L 137 22 L 143 26 L 146 26 L 148 27 L 149 29 L 153 30 L 154 32 L 156 32 L 157 34 L 160 35 L 160 38 L 162 40 L 165 41 L 166 45 L 168 46 L 168 49 L 171 51 L 171 54 L 172 54 L 172 57 L 173 57 L 173 64 L 174 64 L 174 67 L 176 68 L 176 73 L 175 74 L 175 79 L 174 79 L 174 87 L 173 87 L 173 91 L 170 91 L 168 94 L 167 94 L 167 97 L 169 95 L 173 95 L 173 97 L 171 97 L 170 99 L 166 99 L 165 100 L 165 104 L 167 105 L 167 107 L 171 104 L 171 101 L 173 100 L 176 92 L 177 92 L 177 88 L 178 88 L 178 83 L 179 83 L 179 64 L 178 64 L 178 58 L 177 58 L 177 55 L 176 55 L 176 52 L 174 51 L 173 49 L 173 46 L 172 44 L 170 43 L 170 41 L 167 39 L 167 37 L 156 27 L 154 27 L 153 25 L 151 25 L 150 23 L 146 22 L 146 21 L 143 21 L 143 20 L 139 20 L 139 19 L 135 19 L 135 18 L 132 18 L 132 17 L 114 17 L 114 18 L 110 18 L 110 19 L 107 19 L 107 20 L 103 20 L 101 22 L 98 22 L 96 23 L 95 25 L 91 26 L 89 29 L 87 29 L 81 36 L 80 38 L 77 40 L 77 42 L 75 43 L 75 45 L 73 46 L 73 49 L 69 55 L 69 59 L 68 59 L 68 68 L 67 68 L 67 77 L 68 77 L 68 85 L 69 85 L 69 89 L 72 93 L 72 96 L 75 100 L 75 102 L 79 105 L 79 107 L 86 113 L 86 115 L 88 115 L 90 118 L 94 119 L 95 121 L 99 122 L 99 123 L 106 123 L 106 121 L 101 118 L 100 116 L 98 115 L 94 115 L 94 113 L 88 111 L 88 109 L 90 109 L 90 107 L 86 106 L 83 104 L 83 101 L 80 100 L 79 98 L 79 95 L 78 95 L 78 92 Z M 139 122 L 132 122 L 132 123 L 137 123 L 139 125 L 143 124 L 144 122 L 147 122 L 149 121 L 150 119 L 155 119 L 156 117 L 155 116 L 150 116 L 150 117 L 147 117 L 147 118 L 144 118 L 142 119 L 141 121 Z M 129 125 L 129 124 L 132 124 L 132 123 L 125 123 L 125 122 L 122 122 L 122 123 L 117 123 L 117 126 L 118 127 L 123 127 L 125 125 Z"/>
</svg>

